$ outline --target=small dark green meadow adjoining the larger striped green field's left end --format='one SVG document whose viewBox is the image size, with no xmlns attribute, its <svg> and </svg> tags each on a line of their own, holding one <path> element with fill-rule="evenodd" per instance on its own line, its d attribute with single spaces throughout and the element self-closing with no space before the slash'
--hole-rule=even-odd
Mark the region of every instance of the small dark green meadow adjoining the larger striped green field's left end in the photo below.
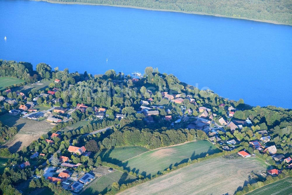
<svg viewBox="0 0 292 195">
<path fill-rule="evenodd" d="M 102 150 L 95 154 L 95 158 L 101 157 L 102 161 L 108 163 L 119 164 L 124 160 L 137 156 L 141 153 L 147 152 L 148 149 L 140 146 L 124 146 L 116 147 L 108 150 Z"/>
</svg>

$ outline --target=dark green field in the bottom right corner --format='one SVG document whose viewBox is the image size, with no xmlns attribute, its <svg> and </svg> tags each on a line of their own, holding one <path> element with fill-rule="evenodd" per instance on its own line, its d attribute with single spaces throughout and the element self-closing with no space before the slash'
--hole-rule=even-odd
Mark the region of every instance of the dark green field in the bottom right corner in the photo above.
<svg viewBox="0 0 292 195">
<path fill-rule="evenodd" d="M 292 194 L 292 178 L 288 177 L 280 181 L 274 182 L 272 184 L 263 186 L 247 195 L 267 195 L 267 194 L 279 194 L 279 195 L 289 195 Z"/>
</svg>

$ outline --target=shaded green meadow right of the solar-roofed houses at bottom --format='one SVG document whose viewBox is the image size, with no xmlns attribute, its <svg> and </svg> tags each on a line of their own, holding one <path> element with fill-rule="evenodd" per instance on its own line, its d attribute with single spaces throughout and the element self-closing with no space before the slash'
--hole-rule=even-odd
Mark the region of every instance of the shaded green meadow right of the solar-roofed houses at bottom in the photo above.
<svg viewBox="0 0 292 195">
<path fill-rule="evenodd" d="M 109 173 L 107 175 L 103 175 L 98 180 L 95 180 L 90 187 L 86 188 L 84 192 L 81 194 L 87 195 L 87 194 L 105 194 L 107 191 L 109 191 L 112 188 L 112 183 L 118 182 L 121 184 L 126 184 L 135 181 L 136 178 L 128 175 L 125 172 L 120 171 L 114 171 L 112 173 Z"/>
</svg>

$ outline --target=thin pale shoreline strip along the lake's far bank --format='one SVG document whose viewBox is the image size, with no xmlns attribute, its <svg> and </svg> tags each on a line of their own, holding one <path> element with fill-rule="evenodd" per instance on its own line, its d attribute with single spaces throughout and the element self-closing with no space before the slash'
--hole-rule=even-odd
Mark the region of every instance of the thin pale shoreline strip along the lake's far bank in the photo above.
<svg viewBox="0 0 292 195">
<path fill-rule="evenodd" d="M 234 18 L 234 19 L 242 19 L 242 20 L 252 20 L 257 22 L 265 22 L 265 23 L 272 23 L 272 24 L 281 24 L 281 25 L 289 25 L 277 21 L 272 20 L 258 20 L 258 19 L 251 19 L 245 17 L 232 17 L 232 16 L 223 16 L 220 14 L 208 14 L 204 12 L 188 12 L 188 11 L 178 11 L 178 10 L 168 10 L 168 9 L 156 9 L 156 8 L 147 8 L 147 7 L 137 7 L 137 6 L 125 6 L 125 5 L 107 5 L 107 4 L 92 4 L 92 3 L 82 3 L 82 2 L 60 2 L 60 1 L 52 1 L 52 0 L 30 0 L 30 1 L 45 1 L 48 3 L 54 4 L 79 4 L 79 5 L 95 5 L 95 6 L 113 6 L 113 7 L 125 7 L 125 8 L 135 8 L 135 9 L 145 9 L 145 10 L 152 10 L 152 11 L 169 11 L 169 12 L 180 12 L 180 13 L 188 13 L 188 14 L 197 14 L 197 15 L 207 15 L 207 16 L 217 16 L 223 18 Z"/>
</svg>

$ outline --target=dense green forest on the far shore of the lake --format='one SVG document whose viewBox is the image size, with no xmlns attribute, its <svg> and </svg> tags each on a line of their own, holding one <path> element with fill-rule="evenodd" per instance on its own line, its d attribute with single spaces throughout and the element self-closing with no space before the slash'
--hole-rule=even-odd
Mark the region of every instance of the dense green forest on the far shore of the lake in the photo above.
<svg viewBox="0 0 292 195">
<path fill-rule="evenodd" d="M 59 2 L 136 6 L 227 17 L 272 20 L 292 25 L 292 0 L 51 0 Z"/>
</svg>

